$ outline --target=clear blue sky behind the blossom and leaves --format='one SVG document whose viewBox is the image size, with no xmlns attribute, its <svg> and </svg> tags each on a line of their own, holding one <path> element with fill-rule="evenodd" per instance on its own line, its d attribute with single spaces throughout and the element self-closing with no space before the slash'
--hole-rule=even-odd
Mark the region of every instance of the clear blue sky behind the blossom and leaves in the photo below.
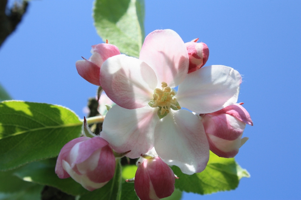
<svg viewBox="0 0 301 200">
<path fill-rule="evenodd" d="M 170 28 L 210 50 L 206 65 L 243 75 L 239 102 L 251 114 L 249 141 L 236 156 L 251 178 L 235 191 L 183 199 L 299 199 L 301 196 L 301 1 L 145 2 L 145 32 Z M 83 118 L 96 86 L 75 62 L 102 42 L 92 0 L 31 1 L 17 31 L 0 48 L 0 82 L 14 99 L 59 104 Z"/>
</svg>

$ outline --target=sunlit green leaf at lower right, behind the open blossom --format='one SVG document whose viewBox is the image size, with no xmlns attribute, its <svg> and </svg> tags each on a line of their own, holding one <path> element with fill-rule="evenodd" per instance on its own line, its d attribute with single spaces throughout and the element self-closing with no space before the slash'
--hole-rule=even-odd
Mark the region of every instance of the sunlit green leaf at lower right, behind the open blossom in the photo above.
<svg viewBox="0 0 301 200">
<path fill-rule="evenodd" d="M 234 158 L 220 158 L 211 151 L 207 167 L 201 173 L 183 174 L 176 166 L 173 166 L 172 170 L 179 177 L 175 184 L 177 189 L 198 194 L 234 190 L 240 178 L 250 177 L 250 174 L 242 169 Z"/>
</svg>

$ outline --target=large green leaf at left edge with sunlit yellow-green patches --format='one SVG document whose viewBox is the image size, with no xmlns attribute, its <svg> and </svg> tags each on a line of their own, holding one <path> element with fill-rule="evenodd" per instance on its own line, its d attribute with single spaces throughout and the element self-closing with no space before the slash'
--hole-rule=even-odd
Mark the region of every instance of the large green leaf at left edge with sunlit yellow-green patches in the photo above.
<svg viewBox="0 0 301 200">
<path fill-rule="evenodd" d="M 0 103 L 0 170 L 56 157 L 82 132 L 82 122 L 68 108 L 46 103 Z"/>
</svg>

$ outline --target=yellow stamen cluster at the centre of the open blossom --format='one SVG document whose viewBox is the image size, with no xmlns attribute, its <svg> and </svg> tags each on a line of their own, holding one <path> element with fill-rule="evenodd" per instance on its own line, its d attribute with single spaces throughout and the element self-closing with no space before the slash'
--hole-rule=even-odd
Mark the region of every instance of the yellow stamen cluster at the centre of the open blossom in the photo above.
<svg viewBox="0 0 301 200">
<path fill-rule="evenodd" d="M 161 115 L 169 113 L 170 108 L 173 110 L 181 109 L 181 106 L 177 102 L 176 98 L 173 98 L 176 95 L 176 92 L 167 86 L 167 83 L 162 82 L 162 89 L 156 88 L 153 94 L 154 104 L 151 107 L 161 108 Z"/>
</svg>

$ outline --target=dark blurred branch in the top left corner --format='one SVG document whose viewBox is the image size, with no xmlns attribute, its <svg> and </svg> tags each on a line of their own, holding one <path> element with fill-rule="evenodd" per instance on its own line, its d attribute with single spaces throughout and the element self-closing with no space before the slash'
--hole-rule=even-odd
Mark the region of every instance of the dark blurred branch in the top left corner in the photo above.
<svg viewBox="0 0 301 200">
<path fill-rule="evenodd" d="M 7 0 L 0 0 L 0 47 L 4 40 L 16 29 L 28 7 L 28 2 L 15 2 L 8 9 Z"/>
</svg>

